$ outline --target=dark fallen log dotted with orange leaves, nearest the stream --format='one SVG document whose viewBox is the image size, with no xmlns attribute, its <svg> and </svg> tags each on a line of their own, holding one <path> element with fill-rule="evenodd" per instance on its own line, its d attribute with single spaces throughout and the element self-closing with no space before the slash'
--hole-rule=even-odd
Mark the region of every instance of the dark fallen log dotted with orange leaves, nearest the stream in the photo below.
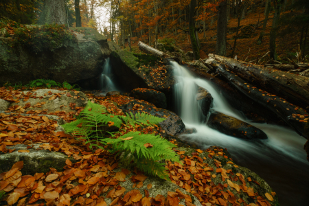
<svg viewBox="0 0 309 206">
<path fill-rule="evenodd" d="M 308 134 L 305 132 L 305 125 L 309 122 L 309 115 L 303 108 L 290 104 L 290 102 L 287 102 L 277 95 L 268 93 L 262 89 L 257 89 L 252 84 L 242 80 L 242 78 L 235 73 L 229 71 L 230 68 L 222 63 L 216 64 L 216 62 L 214 62 L 212 66 L 216 67 L 220 74 L 233 84 L 238 91 L 271 110 L 281 117 L 291 128 L 294 128 L 299 135 L 309 139 Z"/>
</svg>

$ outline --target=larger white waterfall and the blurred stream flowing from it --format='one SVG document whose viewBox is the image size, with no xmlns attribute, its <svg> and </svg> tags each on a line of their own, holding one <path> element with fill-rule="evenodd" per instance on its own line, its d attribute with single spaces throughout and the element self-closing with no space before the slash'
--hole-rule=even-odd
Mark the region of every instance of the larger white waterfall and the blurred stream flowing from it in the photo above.
<svg viewBox="0 0 309 206">
<path fill-rule="evenodd" d="M 234 157 L 236 163 L 262 176 L 279 196 L 281 205 L 308 205 L 309 163 L 306 161 L 306 139 L 289 128 L 269 124 L 251 123 L 232 108 L 214 85 L 195 78 L 185 67 L 170 62 L 178 83 L 174 87 L 174 102 L 187 128 L 196 128 L 196 133 L 181 136 L 201 148 L 222 146 Z M 260 128 L 266 140 L 245 140 L 229 137 L 209 128 L 201 121 L 200 108 L 196 102 L 196 85 L 203 87 L 214 98 L 212 111 L 219 111 Z"/>
</svg>

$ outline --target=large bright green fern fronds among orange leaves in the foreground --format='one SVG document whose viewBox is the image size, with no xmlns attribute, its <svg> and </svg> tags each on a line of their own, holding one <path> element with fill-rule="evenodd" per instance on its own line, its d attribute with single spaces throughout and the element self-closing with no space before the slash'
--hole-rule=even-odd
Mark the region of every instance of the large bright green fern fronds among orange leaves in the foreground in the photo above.
<svg viewBox="0 0 309 206">
<path fill-rule="evenodd" d="M 165 163 L 160 163 L 161 160 L 179 161 L 178 155 L 172 150 L 174 147 L 166 139 L 161 138 L 159 135 L 146 135 L 140 132 L 130 132 L 120 136 L 117 139 L 104 138 L 106 133 L 115 137 L 117 132 L 108 132 L 104 130 L 106 124 L 113 122 L 115 128 L 120 128 L 122 124 L 135 127 L 135 124 L 141 126 L 152 126 L 162 122 L 163 118 L 155 117 L 145 113 L 126 114 L 125 116 L 111 115 L 106 113 L 104 106 L 88 102 L 87 106 L 80 113 L 75 122 L 63 125 L 67 133 L 76 136 L 81 136 L 82 139 L 87 139 L 86 144 L 90 144 L 91 148 L 102 148 L 103 145 L 110 145 L 109 152 L 117 153 L 124 152 L 124 157 L 130 157 L 126 161 L 134 160 L 137 168 L 148 173 L 155 174 L 162 179 L 168 179 L 168 173 L 165 171 Z M 128 138 L 133 137 L 133 138 Z M 128 138 L 128 139 L 126 139 Z M 101 146 L 99 145 L 101 144 Z M 151 144 L 152 147 L 144 146 Z"/>
</svg>

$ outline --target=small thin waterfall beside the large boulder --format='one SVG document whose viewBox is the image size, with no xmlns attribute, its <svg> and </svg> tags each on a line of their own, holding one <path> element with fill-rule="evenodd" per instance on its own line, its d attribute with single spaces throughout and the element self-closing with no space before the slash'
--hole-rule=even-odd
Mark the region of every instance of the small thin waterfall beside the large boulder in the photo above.
<svg viewBox="0 0 309 206">
<path fill-rule="evenodd" d="M 103 65 L 103 71 L 100 76 L 100 89 L 101 91 L 115 91 L 117 90 L 117 87 L 111 80 L 111 64 L 109 62 L 109 58 L 106 58 L 104 65 Z"/>
</svg>

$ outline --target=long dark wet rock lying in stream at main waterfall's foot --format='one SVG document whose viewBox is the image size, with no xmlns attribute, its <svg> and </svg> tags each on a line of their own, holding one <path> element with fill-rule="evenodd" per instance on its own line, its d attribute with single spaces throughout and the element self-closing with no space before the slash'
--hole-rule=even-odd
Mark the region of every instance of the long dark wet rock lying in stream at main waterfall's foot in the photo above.
<svg viewBox="0 0 309 206">
<path fill-rule="evenodd" d="M 267 139 L 267 135 L 259 128 L 219 112 L 210 114 L 207 125 L 218 130 L 220 133 L 232 137 L 242 139 Z"/>
</svg>

